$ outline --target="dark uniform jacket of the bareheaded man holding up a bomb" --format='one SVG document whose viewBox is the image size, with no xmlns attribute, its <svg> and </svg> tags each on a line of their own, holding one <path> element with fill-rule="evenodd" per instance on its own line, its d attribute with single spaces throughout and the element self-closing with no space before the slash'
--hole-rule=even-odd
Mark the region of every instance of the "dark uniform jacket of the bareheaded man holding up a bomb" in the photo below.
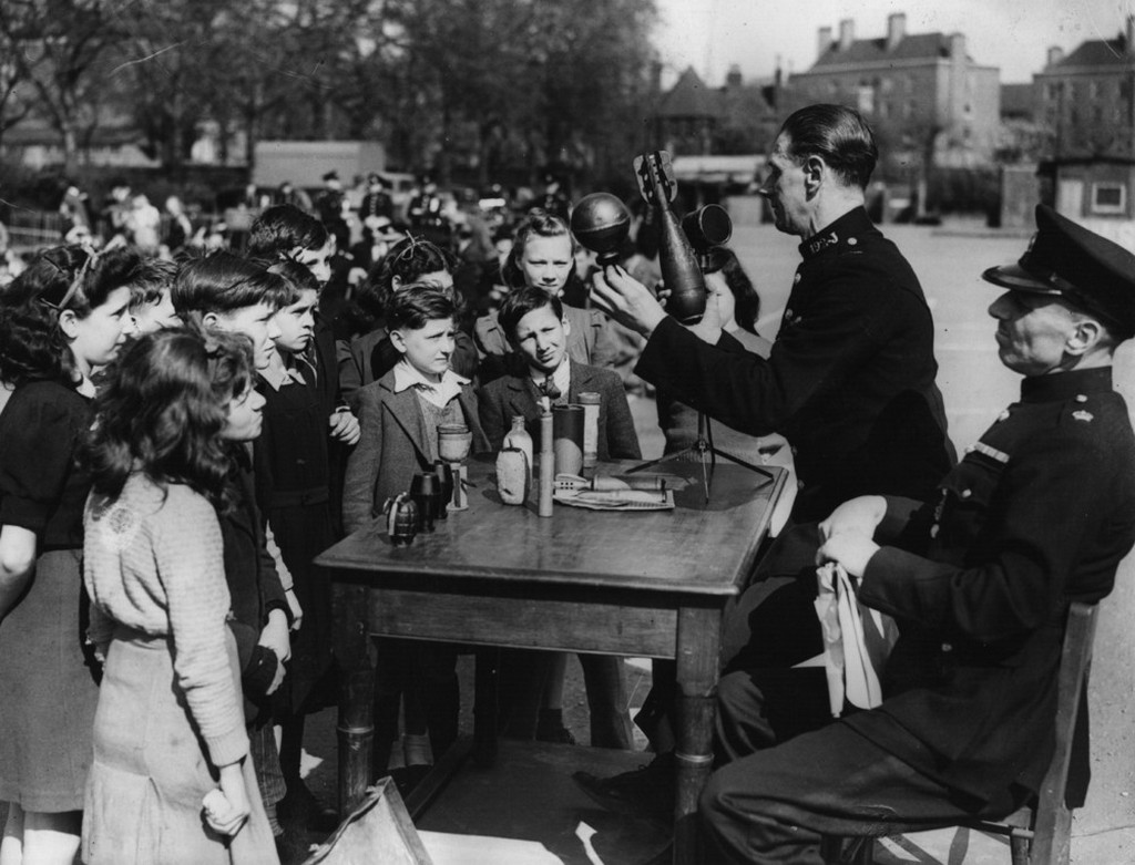
<svg viewBox="0 0 1135 865">
<path fill-rule="evenodd" d="M 783 434 L 802 483 L 800 519 L 867 492 L 928 495 L 953 452 L 917 277 L 861 207 L 800 253 L 768 359 L 665 319 L 634 372 L 734 430 Z"/>
</svg>

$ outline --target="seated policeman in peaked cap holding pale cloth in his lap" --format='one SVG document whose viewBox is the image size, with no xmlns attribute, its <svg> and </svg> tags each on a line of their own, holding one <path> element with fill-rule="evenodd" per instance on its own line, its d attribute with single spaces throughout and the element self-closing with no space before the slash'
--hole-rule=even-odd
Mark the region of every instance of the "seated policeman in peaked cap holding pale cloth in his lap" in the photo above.
<svg viewBox="0 0 1135 865">
<path fill-rule="evenodd" d="M 1105 596 L 1135 543 L 1135 435 L 1111 383 L 1135 256 L 1049 207 L 1036 223 L 1017 264 L 983 274 L 1009 289 L 990 315 L 1020 400 L 925 503 L 864 497 L 821 524 L 818 560 L 899 624 L 885 699 L 756 750 L 751 679 L 726 676 L 730 762 L 701 797 L 714 862 L 821 863 L 822 833 L 1002 817 L 1039 789 L 1069 602 Z"/>
</svg>

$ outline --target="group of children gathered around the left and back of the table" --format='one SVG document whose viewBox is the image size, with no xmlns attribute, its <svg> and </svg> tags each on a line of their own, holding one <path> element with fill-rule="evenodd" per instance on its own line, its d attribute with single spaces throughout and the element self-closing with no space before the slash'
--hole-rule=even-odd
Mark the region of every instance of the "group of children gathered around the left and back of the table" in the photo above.
<svg viewBox="0 0 1135 865">
<path fill-rule="evenodd" d="M 276 205 L 243 255 L 59 246 L 0 290 L 2 865 L 287 859 L 284 825 L 334 825 L 300 773 L 335 694 L 314 557 L 432 467 L 442 424 L 487 452 L 589 390 L 600 458 L 640 456 L 607 323 L 562 299 L 566 223 L 515 238 L 469 279 L 405 237 L 335 294 L 334 236 Z M 420 772 L 457 736 L 459 647 L 392 648 L 375 770 L 401 719 Z M 581 660 L 592 744 L 629 747 L 621 665 Z M 563 660 L 518 663 L 507 730 L 570 739 Z"/>
</svg>

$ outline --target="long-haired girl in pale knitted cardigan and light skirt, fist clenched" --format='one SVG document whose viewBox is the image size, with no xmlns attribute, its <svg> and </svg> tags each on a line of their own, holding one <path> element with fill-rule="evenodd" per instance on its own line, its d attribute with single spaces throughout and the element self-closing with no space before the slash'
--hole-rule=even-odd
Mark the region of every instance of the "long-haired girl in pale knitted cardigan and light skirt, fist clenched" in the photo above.
<svg viewBox="0 0 1135 865">
<path fill-rule="evenodd" d="M 278 863 L 226 625 L 222 435 L 258 427 L 251 341 L 137 339 L 96 400 L 84 525 L 90 637 L 104 659 L 83 862 Z"/>
</svg>

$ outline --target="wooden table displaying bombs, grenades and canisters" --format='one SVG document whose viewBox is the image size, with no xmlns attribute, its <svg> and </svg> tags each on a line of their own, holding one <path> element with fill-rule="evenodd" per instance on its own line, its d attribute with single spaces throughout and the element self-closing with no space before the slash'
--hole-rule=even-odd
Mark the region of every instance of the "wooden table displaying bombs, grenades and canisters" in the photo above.
<svg viewBox="0 0 1135 865">
<path fill-rule="evenodd" d="M 673 510 L 557 503 L 552 518 L 541 518 L 535 507 L 502 503 L 491 466 L 473 461 L 469 509 L 451 512 L 432 534 L 394 546 L 376 521 L 317 559 L 335 580 L 340 813 L 361 802 L 371 781 L 373 664 L 380 661 L 369 636 L 675 659 L 674 860 L 698 860 L 697 803 L 713 763 L 722 610 L 753 569 L 787 473 L 770 467 L 766 477 L 717 464 L 707 503 L 699 464 L 665 463 L 656 472 L 689 480 L 675 491 Z M 495 719 L 488 715 L 476 713 L 474 738 L 490 747 Z M 494 724 L 487 730 L 486 719 Z"/>
</svg>

